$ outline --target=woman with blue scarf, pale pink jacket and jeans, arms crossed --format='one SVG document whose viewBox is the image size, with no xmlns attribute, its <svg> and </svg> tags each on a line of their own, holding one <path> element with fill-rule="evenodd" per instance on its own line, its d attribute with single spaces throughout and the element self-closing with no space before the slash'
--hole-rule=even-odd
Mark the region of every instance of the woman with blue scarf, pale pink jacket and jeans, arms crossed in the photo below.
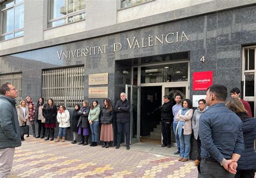
<svg viewBox="0 0 256 178">
<path fill-rule="evenodd" d="M 185 162 L 188 161 L 190 156 L 193 109 L 190 99 L 184 99 L 181 106 L 182 108 L 177 113 L 179 123 L 176 130 L 180 139 L 180 158 L 178 161 Z"/>
</svg>

